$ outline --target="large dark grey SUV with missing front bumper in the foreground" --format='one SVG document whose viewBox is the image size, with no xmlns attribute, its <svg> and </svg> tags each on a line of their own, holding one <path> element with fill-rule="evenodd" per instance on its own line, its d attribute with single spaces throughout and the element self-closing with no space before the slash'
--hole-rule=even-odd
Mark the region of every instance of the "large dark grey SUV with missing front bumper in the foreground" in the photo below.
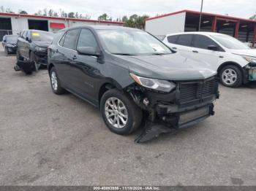
<svg viewBox="0 0 256 191">
<path fill-rule="evenodd" d="M 136 141 L 184 128 L 214 114 L 217 73 L 135 28 L 80 26 L 48 48 L 53 93 L 65 90 L 99 106 L 108 128 Z"/>
</svg>

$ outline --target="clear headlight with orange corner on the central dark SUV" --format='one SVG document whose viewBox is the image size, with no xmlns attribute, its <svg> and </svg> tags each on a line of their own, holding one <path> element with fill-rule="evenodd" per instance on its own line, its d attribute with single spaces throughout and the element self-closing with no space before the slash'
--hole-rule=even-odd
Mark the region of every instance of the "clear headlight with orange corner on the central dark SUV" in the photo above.
<svg viewBox="0 0 256 191">
<path fill-rule="evenodd" d="M 166 80 L 139 77 L 139 76 L 137 76 L 135 74 L 132 74 L 132 73 L 130 73 L 129 75 L 139 85 L 142 85 L 143 87 L 150 88 L 152 90 L 159 90 L 159 91 L 168 93 L 176 87 L 175 83 L 168 82 Z"/>
</svg>

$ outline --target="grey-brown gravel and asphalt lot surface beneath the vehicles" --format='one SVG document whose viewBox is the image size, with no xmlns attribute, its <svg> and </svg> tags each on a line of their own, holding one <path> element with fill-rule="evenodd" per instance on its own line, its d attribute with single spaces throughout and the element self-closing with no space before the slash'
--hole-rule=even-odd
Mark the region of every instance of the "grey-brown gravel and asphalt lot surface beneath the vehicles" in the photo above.
<svg viewBox="0 0 256 191">
<path fill-rule="evenodd" d="M 46 70 L 14 63 L 1 49 L 1 185 L 256 185 L 255 87 L 221 86 L 214 117 L 135 144 L 139 131 L 111 133 L 94 106 L 54 95 Z"/>
</svg>

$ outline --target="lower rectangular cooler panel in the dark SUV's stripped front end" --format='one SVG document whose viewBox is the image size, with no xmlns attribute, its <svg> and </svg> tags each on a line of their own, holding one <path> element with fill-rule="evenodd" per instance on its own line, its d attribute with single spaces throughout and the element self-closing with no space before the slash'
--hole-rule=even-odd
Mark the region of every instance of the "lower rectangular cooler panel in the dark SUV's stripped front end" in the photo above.
<svg viewBox="0 0 256 191">
<path fill-rule="evenodd" d="M 197 110 L 193 110 L 190 112 L 184 112 L 179 115 L 178 125 L 184 125 L 187 122 L 191 122 L 192 120 L 197 120 L 201 117 L 206 117 L 210 113 L 210 107 L 203 107 Z"/>
</svg>

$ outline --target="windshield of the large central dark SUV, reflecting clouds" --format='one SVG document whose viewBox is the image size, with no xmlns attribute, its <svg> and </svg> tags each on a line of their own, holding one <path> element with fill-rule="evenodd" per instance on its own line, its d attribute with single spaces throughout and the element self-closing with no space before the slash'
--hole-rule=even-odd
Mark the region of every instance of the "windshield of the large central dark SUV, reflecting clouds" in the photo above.
<svg viewBox="0 0 256 191">
<path fill-rule="evenodd" d="M 144 31 L 98 30 L 107 50 L 116 55 L 170 54 L 171 50 Z"/>
</svg>

